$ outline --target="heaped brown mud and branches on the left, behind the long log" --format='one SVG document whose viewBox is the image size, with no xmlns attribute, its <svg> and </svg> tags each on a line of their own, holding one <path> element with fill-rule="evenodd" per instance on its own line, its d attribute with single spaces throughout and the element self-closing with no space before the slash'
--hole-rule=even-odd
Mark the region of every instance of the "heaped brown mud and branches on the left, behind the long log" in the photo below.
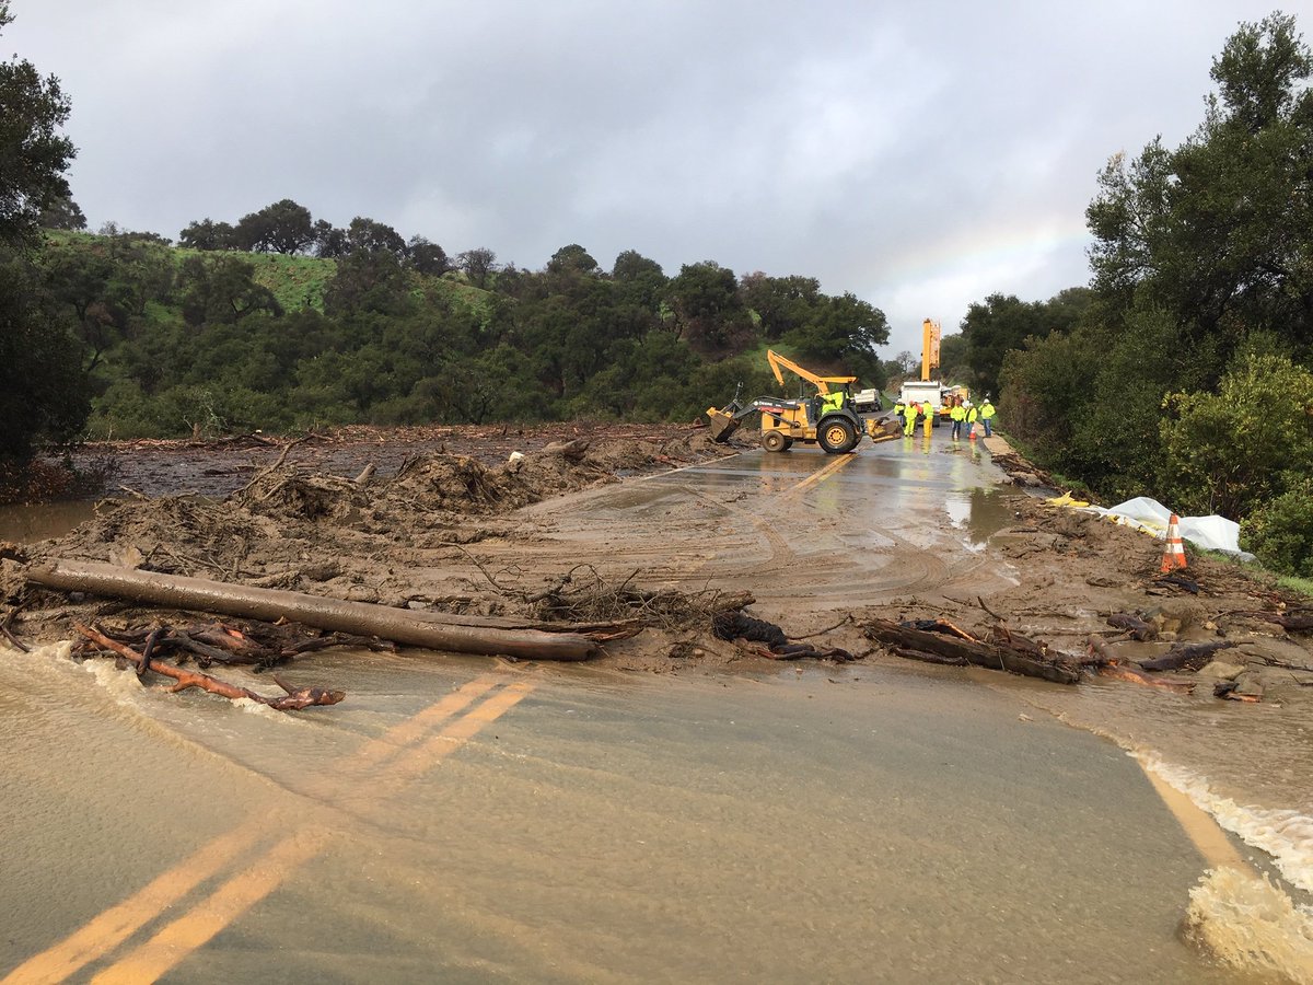
<svg viewBox="0 0 1313 985">
<path fill-rule="evenodd" d="M 72 559 L 407 611 L 591 623 L 604 626 L 597 632 L 613 645 L 650 628 L 647 646 L 633 658 L 639 663 L 714 654 L 722 647 L 712 634 L 713 617 L 751 604 L 750 594 L 647 587 L 638 570 L 614 582 L 587 563 L 545 573 L 527 587 L 519 566 L 492 571 L 470 550 L 495 540 L 530 554 L 546 524 L 513 516 L 521 507 L 725 456 L 699 429 L 666 431 L 603 440 L 554 433 L 496 462 L 487 453 L 429 450 L 402 458 L 389 474 L 373 457 L 374 468 L 357 470 L 357 458 L 348 468 L 356 478 L 311 470 L 282 445 L 274 462 L 223 499 L 152 498 L 129 486 L 127 498 L 104 500 L 64 537 L 5 545 L 0 591 L 9 621 L 17 617 L 16 638 L 22 632 L 70 636 L 91 620 L 123 638 L 134 625 L 181 615 L 91 592 L 53 592 L 25 578 L 33 566 Z M 469 448 L 483 436 L 466 439 Z M 335 461 L 348 458 L 339 453 Z"/>
</svg>

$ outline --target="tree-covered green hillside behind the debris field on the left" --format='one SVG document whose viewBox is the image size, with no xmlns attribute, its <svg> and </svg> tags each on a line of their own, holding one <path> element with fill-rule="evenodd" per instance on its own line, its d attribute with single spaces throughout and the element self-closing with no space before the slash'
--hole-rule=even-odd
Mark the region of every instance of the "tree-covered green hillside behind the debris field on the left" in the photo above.
<svg viewBox="0 0 1313 985">
<path fill-rule="evenodd" d="M 366 229 L 353 223 L 356 236 Z M 818 368 L 867 365 L 884 317 L 810 285 L 789 320 L 752 318 L 713 263 L 668 278 L 629 251 L 612 273 L 571 244 L 542 271 L 428 273 L 399 236 L 336 257 L 171 247 L 134 232 L 53 232 L 33 250 L 80 343 L 95 437 L 316 424 L 692 419 L 738 382 L 771 391 L 764 347 Z M 397 251 L 400 250 L 398 253 Z"/>
</svg>

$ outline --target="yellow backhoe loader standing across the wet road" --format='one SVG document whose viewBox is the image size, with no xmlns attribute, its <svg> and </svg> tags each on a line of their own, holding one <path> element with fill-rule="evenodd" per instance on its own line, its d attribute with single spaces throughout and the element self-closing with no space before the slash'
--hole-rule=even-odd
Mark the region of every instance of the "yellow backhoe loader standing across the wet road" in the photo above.
<svg viewBox="0 0 1313 985">
<path fill-rule="evenodd" d="M 784 385 L 784 370 L 811 383 L 815 393 L 794 399 L 780 397 L 758 397 L 741 401 L 738 393 L 723 407 L 708 407 L 706 420 L 710 424 L 712 440 L 723 443 L 738 431 L 744 422 L 759 419 L 762 447 L 768 452 L 786 452 L 794 441 L 818 444 L 827 454 L 851 452 L 864 436 L 872 441 L 894 437 L 897 422 L 890 418 L 868 416 L 859 411 L 853 399 L 853 376 L 818 376 L 804 369 L 797 362 L 780 353 L 767 349 L 767 362 L 775 378 Z M 871 399 L 869 393 L 861 406 L 881 410 L 878 394 Z"/>
</svg>

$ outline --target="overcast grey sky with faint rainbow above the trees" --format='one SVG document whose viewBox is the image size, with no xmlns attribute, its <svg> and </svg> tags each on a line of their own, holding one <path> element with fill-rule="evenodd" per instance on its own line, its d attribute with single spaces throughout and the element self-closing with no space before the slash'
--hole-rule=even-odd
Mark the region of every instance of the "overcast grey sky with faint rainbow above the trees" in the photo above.
<svg viewBox="0 0 1313 985">
<path fill-rule="evenodd" d="M 530 269 L 569 243 L 716 260 L 869 301 L 892 357 L 922 318 L 1086 284 L 1099 169 L 1188 137 L 1213 56 L 1274 9 L 11 0 L 0 50 L 71 97 L 92 230 L 176 239 L 294 198 Z"/>
</svg>

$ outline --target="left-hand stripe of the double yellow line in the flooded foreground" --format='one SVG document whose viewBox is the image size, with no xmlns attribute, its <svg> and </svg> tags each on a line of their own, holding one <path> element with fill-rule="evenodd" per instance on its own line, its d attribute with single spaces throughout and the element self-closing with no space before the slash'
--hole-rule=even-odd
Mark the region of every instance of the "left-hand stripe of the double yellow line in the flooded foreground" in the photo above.
<svg viewBox="0 0 1313 985">
<path fill-rule="evenodd" d="M 386 733 L 369 741 L 343 763 L 344 771 L 362 771 L 395 756 L 407 745 L 420 738 L 436 722 L 470 705 L 500 680 L 500 675 L 484 674 L 463 684 L 441 700 Z M 339 777 L 324 777 L 316 787 L 327 788 Z M 160 873 L 137 893 L 104 910 L 81 929 L 54 947 L 29 957 L 9 972 L 0 985 L 33 985 L 58 982 L 84 965 L 95 961 L 127 940 L 146 923 L 214 876 L 242 852 L 249 850 L 268 833 L 268 818 L 256 817 L 211 839 L 177 865 Z"/>
</svg>

